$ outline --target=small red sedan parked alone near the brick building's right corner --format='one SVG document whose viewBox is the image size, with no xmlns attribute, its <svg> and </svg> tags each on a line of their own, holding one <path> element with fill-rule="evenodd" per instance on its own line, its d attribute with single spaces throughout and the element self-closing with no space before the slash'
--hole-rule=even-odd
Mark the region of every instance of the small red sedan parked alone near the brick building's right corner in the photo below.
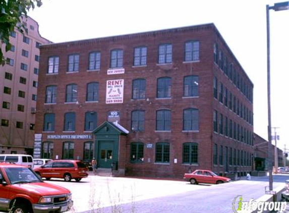
<svg viewBox="0 0 289 213">
<path fill-rule="evenodd" d="M 230 182 L 231 179 L 218 176 L 210 170 L 195 170 L 192 173 L 186 173 L 184 180 L 189 181 L 191 184 L 209 183 L 220 184 Z"/>
</svg>

